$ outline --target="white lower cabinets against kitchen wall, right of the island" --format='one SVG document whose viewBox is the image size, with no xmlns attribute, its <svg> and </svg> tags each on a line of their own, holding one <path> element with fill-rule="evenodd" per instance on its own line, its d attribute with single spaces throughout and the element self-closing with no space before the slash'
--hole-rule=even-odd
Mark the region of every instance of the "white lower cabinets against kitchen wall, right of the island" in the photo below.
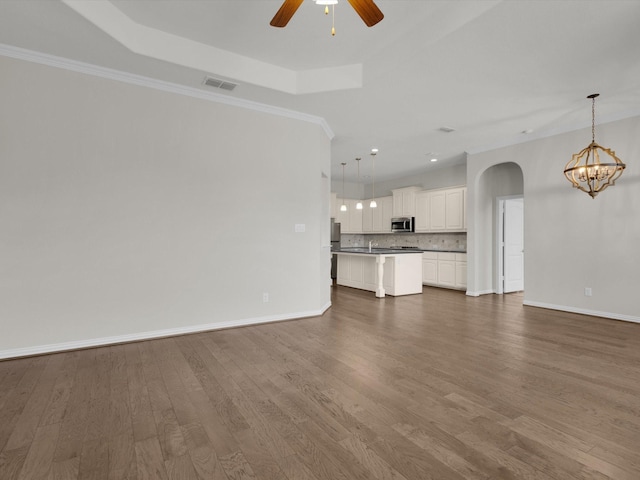
<svg viewBox="0 0 640 480">
<path fill-rule="evenodd" d="M 467 288 L 467 254 L 423 252 L 422 283 L 465 290 Z"/>
</svg>

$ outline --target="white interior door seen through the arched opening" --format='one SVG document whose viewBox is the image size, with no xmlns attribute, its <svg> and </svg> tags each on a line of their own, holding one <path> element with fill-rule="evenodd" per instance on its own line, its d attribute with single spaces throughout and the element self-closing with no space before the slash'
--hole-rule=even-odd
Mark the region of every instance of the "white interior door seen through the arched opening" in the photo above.
<svg viewBox="0 0 640 480">
<path fill-rule="evenodd" d="M 524 290 L 524 199 L 504 202 L 504 292 Z"/>
</svg>

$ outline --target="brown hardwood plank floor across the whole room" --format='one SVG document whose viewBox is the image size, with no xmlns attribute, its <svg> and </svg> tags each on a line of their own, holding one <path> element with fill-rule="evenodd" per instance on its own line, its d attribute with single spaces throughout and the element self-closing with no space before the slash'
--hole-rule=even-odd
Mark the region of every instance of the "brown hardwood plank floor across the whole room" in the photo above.
<svg viewBox="0 0 640 480">
<path fill-rule="evenodd" d="M 640 325 L 519 295 L 0 362 L 0 479 L 640 479 Z"/>
</svg>

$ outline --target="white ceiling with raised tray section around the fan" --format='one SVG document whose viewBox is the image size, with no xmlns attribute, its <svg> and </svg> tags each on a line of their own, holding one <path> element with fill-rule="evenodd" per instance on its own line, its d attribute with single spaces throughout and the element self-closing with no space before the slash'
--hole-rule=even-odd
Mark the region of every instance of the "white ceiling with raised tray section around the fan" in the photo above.
<svg viewBox="0 0 640 480">
<path fill-rule="evenodd" d="M 638 0 L 376 3 L 367 28 L 340 0 L 332 37 L 312 0 L 283 29 L 269 26 L 280 0 L 0 0 L 0 43 L 197 89 L 235 81 L 216 91 L 323 117 L 348 181 L 372 147 L 381 181 L 585 127 L 591 93 L 599 122 L 640 115 Z M 349 88 L 286 93 L 292 78 Z"/>
</svg>

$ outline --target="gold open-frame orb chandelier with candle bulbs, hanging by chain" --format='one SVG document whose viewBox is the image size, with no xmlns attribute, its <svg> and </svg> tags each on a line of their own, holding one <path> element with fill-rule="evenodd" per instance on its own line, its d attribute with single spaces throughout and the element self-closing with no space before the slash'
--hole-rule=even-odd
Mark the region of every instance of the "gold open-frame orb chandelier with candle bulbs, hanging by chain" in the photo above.
<svg viewBox="0 0 640 480">
<path fill-rule="evenodd" d="M 599 95 L 593 93 L 587 97 L 591 99 L 591 143 L 580 153 L 574 154 L 564 168 L 567 180 L 591 198 L 596 198 L 596 195 L 609 185 L 615 185 L 626 167 L 616 157 L 616 152 L 596 143 L 596 97 Z M 601 152 L 609 157 L 605 157 L 604 162 L 600 161 Z"/>
</svg>

